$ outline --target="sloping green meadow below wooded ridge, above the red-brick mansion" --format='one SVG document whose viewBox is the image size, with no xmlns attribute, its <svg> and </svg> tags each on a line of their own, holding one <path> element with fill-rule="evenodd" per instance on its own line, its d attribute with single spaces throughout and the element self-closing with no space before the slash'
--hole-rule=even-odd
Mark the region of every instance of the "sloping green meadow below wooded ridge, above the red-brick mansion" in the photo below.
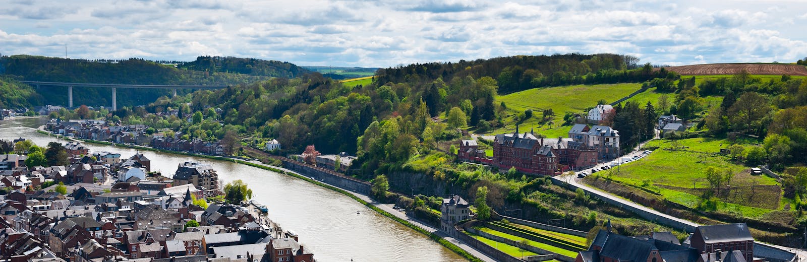
<svg viewBox="0 0 807 262">
<path fill-rule="evenodd" d="M 520 92 L 505 94 L 496 97 L 496 102 L 504 102 L 507 106 L 505 127 L 501 127 L 492 134 L 512 132 L 516 128 L 513 115 L 524 112 L 527 109 L 533 110 L 533 117 L 524 121 L 519 126 L 519 131 L 529 131 L 534 128 L 536 133 L 554 138 L 558 136 L 566 137 L 571 126 L 560 126 L 563 122 L 563 114 L 567 112 L 584 114 L 590 107 L 596 106 L 600 99 L 606 102 L 615 102 L 624 98 L 641 88 L 641 84 L 613 84 L 613 85 L 567 85 L 546 88 L 527 89 Z M 554 111 L 554 124 L 540 123 L 543 110 L 552 109 Z"/>
</svg>

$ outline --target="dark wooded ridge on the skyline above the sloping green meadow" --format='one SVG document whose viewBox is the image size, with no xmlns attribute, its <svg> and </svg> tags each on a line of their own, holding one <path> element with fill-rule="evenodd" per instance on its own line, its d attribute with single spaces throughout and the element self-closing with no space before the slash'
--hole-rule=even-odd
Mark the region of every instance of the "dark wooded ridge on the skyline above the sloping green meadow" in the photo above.
<svg viewBox="0 0 807 262">
<path fill-rule="evenodd" d="M 633 56 L 616 54 L 506 56 L 379 69 L 377 81 L 415 84 L 437 78 L 448 81 L 454 77 L 492 77 L 500 93 L 511 93 L 541 86 L 642 82 L 667 77 L 666 71 L 653 73 L 649 64 L 642 68 L 638 61 Z"/>
</svg>

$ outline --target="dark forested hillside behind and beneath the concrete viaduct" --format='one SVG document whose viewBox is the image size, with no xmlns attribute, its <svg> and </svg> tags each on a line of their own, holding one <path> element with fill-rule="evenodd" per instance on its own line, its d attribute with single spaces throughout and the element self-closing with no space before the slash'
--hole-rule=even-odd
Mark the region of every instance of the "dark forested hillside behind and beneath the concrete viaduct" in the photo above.
<svg viewBox="0 0 807 262">
<path fill-rule="evenodd" d="M 293 64 L 288 66 L 296 68 Z M 241 73 L 177 69 L 172 65 L 142 59 L 98 62 L 26 55 L 0 57 L 0 73 L 25 81 L 141 85 L 237 85 L 270 78 Z M 67 91 L 64 88 L 40 87 L 36 92 L 44 97 L 45 104 L 67 105 Z M 117 92 L 119 106 L 144 105 L 172 94 L 167 89 L 118 89 Z M 179 93 L 188 92 L 191 90 L 181 90 Z M 77 87 L 73 89 L 73 101 L 75 106 L 111 106 L 111 90 Z"/>
</svg>

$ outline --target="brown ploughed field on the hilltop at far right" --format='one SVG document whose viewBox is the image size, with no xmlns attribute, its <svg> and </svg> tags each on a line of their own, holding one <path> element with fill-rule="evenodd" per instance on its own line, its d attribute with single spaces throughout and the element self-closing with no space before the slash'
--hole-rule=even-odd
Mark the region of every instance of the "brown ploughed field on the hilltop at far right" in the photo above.
<svg viewBox="0 0 807 262">
<path fill-rule="evenodd" d="M 730 75 L 743 69 L 752 75 L 807 76 L 807 67 L 798 64 L 692 64 L 666 69 L 684 76 Z"/>
</svg>

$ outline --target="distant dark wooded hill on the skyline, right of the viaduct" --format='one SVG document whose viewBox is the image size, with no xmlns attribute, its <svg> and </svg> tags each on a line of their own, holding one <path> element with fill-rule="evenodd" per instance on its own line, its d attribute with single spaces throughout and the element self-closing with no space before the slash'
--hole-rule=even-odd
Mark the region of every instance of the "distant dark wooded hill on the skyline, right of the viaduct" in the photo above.
<svg viewBox="0 0 807 262">
<path fill-rule="evenodd" d="M 263 77 L 299 77 L 305 73 L 312 73 L 296 64 L 275 60 L 261 60 L 255 58 L 238 58 L 222 56 L 199 56 L 196 60 L 178 64 L 180 69 L 197 71 L 243 73 Z"/>
</svg>

